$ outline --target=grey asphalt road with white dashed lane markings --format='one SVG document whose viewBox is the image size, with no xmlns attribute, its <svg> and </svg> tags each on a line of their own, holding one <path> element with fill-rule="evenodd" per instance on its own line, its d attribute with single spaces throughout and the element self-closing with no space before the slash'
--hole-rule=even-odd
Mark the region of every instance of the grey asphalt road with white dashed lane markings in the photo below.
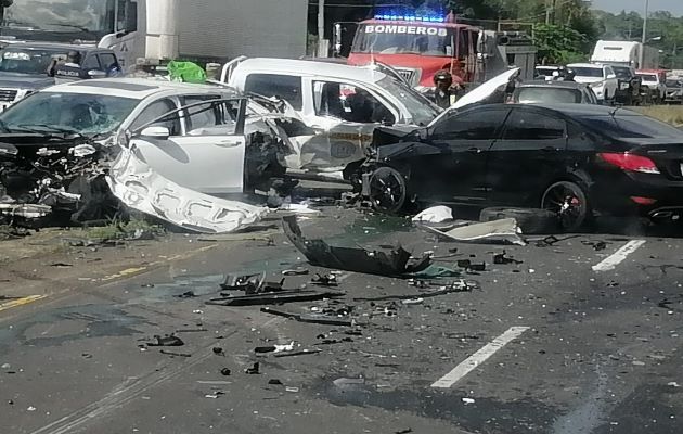
<svg viewBox="0 0 683 434">
<path fill-rule="evenodd" d="M 348 306 L 350 328 L 205 304 L 228 273 L 265 270 L 280 280 L 296 267 L 328 271 L 306 264 L 281 231 L 272 243 L 255 234 L 150 245 L 145 260 L 194 250 L 118 273 L 83 265 L 57 279 L 34 269 L 33 285 L 13 285 L 12 275 L 0 295 L 23 302 L 0 301 L 0 432 L 683 432 L 681 239 L 591 233 L 558 235 L 545 247 L 459 244 L 336 208 L 302 225 L 307 237 L 333 244 L 400 241 L 415 255 L 448 256 L 438 260 L 444 267 L 458 269 L 459 259 L 487 267 L 462 275 L 476 289 L 416 304 L 355 301 L 417 298 L 421 290 L 342 272 L 337 304 L 284 307 Z M 601 241 L 604 250 L 591 245 Z M 503 250 L 521 263 L 494 265 Z M 309 280 L 287 277 L 285 286 Z M 196 296 L 178 297 L 188 291 Z M 173 332 L 183 346 L 145 345 Z M 320 352 L 254 352 L 293 341 Z M 255 361 L 260 373 L 245 373 Z"/>
</svg>

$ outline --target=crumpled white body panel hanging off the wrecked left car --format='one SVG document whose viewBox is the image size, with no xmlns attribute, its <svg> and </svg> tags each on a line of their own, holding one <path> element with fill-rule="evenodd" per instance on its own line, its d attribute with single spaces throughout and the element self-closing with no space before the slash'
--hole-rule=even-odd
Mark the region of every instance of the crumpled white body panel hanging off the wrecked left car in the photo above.
<svg viewBox="0 0 683 434">
<path fill-rule="evenodd" d="M 260 220 L 268 208 L 228 201 L 178 186 L 123 148 L 106 178 L 127 206 L 201 233 L 232 232 Z"/>
</svg>

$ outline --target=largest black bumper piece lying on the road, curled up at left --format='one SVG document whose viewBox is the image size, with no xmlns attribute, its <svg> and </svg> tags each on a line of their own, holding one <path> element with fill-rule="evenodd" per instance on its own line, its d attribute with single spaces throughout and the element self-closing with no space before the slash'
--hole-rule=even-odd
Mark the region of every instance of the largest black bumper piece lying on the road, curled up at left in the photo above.
<svg viewBox="0 0 683 434">
<path fill-rule="evenodd" d="M 301 234 L 301 229 L 295 216 L 283 217 L 285 234 L 309 260 L 311 265 L 339 270 L 363 272 L 388 277 L 402 277 L 426 269 L 431 259 L 423 256 L 417 263 L 409 265 L 411 254 L 397 246 L 392 251 L 366 251 L 363 248 L 335 247 L 323 240 L 308 240 Z"/>
</svg>

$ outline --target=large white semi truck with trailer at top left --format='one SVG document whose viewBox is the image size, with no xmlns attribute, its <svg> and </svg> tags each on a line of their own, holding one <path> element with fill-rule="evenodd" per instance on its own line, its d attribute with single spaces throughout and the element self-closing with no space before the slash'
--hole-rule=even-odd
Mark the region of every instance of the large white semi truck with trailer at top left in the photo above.
<svg viewBox="0 0 683 434">
<path fill-rule="evenodd" d="M 0 39 L 80 42 L 116 51 L 124 68 L 173 59 L 306 54 L 308 0 L 21 0 Z"/>
</svg>

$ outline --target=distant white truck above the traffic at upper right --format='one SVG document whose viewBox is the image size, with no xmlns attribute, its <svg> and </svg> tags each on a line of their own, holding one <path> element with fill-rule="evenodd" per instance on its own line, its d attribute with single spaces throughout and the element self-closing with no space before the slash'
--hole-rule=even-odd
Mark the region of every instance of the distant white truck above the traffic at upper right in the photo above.
<svg viewBox="0 0 683 434">
<path fill-rule="evenodd" d="M 635 69 L 655 69 L 659 67 L 659 50 L 634 41 L 598 40 L 593 49 L 591 62 L 632 66 Z"/>
</svg>

